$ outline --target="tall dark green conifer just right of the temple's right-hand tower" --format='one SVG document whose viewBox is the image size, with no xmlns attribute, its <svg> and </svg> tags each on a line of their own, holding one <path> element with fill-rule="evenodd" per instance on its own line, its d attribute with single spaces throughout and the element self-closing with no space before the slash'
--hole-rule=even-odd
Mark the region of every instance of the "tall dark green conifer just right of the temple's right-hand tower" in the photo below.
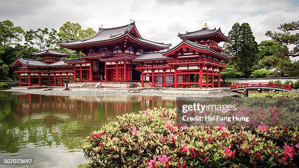
<svg viewBox="0 0 299 168">
<path fill-rule="evenodd" d="M 248 23 L 235 23 L 229 32 L 231 40 L 225 44 L 225 52 L 233 55 L 229 64 L 249 77 L 257 61 L 257 42 Z"/>
</svg>

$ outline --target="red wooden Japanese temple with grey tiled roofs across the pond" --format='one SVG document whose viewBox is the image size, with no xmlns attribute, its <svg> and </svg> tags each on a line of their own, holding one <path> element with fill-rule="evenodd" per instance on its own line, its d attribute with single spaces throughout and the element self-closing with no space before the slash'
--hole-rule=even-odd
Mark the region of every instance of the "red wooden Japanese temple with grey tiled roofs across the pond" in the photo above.
<svg viewBox="0 0 299 168">
<path fill-rule="evenodd" d="M 18 58 L 12 65 L 21 85 L 63 85 L 70 82 L 141 82 L 142 87 L 220 87 L 223 54 L 219 42 L 227 42 L 220 28 L 205 26 L 178 34 L 182 42 L 171 47 L 164 42 L 143 39 L 135 22 L 114 28 L 100 28 L 91 38 L 58 42 L 60 47 L 83 52 L 86 56 L 67 57 L 53 49 L 33 53 L 42 60 Z M 214 83 L 215 76 L 217 76 Z M 209 82 L 210 81 L 210 82 Z M 147 84 L 145 84 L 147 83 Z"/>
</svg>

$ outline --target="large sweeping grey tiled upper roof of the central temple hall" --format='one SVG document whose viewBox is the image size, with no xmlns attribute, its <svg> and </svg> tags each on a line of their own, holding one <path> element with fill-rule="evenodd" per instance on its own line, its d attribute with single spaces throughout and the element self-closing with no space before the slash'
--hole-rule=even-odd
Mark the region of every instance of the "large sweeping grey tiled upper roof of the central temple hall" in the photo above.
<svg viewBox="0 0 299 168">
<path fill-rule="evenodd" d="M 58 42 L 58 44 L 61 44 L 61 45 L 77 45 L 77 44 L 85 44 L 85 43 L 91 43 L 91 42 L 109 41 L 109 40 L 117 39 L 119 37 L 122 37 L 122 36 L 128 34 L 128 32 L 133 27 L 136 28 L 135 22 L 132 22 L 130 24 L 120 26 L 120 27 L 101 28 L 98 31 L 98 33 L 95 34 L 91 38 L 84 39 L 84 40 L 78 40 L 78 41 L 70 41 L 70 42 Z M 149 41 L 149 40 L 145 40 L 145 39 L 141 38 L 141 36 L 140 36 L 140 39 L 137 39 L 133 36 L 130 36 L 130 37 L 135 39 L 136 41 L 149 43 L 149 44 L 157 45 L 157 46 L 160 46 L 160 47 L 169 47 L 169 46 L 171 46 L 171 44 L 164 44 L 164 43 L 160 43 L 160 42 L 152 42 L 152 41 Z"/>
</svg>

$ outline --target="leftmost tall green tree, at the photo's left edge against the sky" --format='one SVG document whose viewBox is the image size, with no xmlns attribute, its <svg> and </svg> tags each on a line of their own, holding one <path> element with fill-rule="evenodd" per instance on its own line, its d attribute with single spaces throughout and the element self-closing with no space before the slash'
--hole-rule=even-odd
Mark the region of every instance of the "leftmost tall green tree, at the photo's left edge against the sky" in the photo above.
<svg viewBox="0 0 299 168">
<path fill-rule="evenodd" d="M 0 21 L 0 53 L 5 52 L 7 47 L 21 42 L 23 32 L 23 29 L 15 26 L 12 21 Z"/>
</svg>

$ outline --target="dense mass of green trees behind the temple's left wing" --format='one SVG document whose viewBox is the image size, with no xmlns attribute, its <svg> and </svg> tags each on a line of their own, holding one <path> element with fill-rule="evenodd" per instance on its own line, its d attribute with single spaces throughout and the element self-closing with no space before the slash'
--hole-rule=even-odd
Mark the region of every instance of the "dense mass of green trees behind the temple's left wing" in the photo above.
<svg viewBox="0 0 299 168">
<path fill-rule="evenodd" d="M 32 52 L 54 47 L 55 50 L 69 53 L 67 58 L 83 56 L 81 52 L 61 48 L 57 41 L 82 40 L 93 36 L 96 32 L 92 28 L 83 29 L 79 23 L 67 21 L 57 30 L 48 28 L 29 29 L 24 31 L 15 26 L 12 21 L 0 21 L 0 80 L 9 80 L 12 70 L 7 69 L 16 58 L 40 59 L 31 55 Z"/>
</svg>

